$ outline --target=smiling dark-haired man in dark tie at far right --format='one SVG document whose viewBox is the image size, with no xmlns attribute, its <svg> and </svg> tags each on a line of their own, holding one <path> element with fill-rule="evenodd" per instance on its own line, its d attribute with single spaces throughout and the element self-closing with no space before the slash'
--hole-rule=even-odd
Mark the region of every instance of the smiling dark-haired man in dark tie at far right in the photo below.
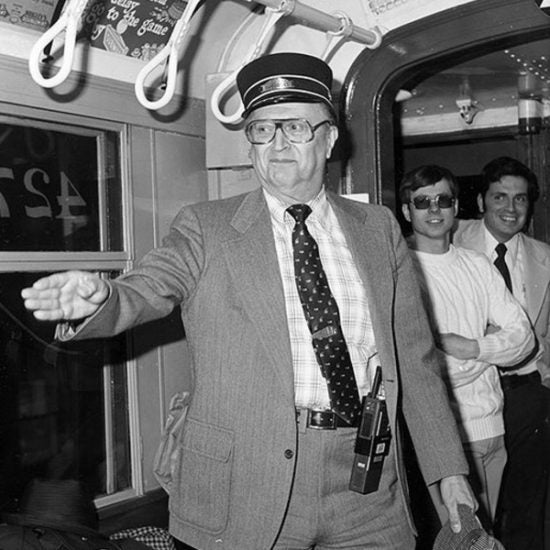
<svg viewBox="0 0 550 550">
<path fill-rule="evenodd" d="M 550 246 L 525 233 L 538 197 L 535 174 L 510 157 L 482 172 L 481 220 L 461 220 L 454 243 L 485 254 L 502 272 L 523 306 L 539 353 L 516 369 L 501 371 L 508 462 L 497 510 L 497 531 L 506 548 L 544 550 L 550 455 Z M 504 246 L 504 247 L 503 247 Z"/>
</svg>

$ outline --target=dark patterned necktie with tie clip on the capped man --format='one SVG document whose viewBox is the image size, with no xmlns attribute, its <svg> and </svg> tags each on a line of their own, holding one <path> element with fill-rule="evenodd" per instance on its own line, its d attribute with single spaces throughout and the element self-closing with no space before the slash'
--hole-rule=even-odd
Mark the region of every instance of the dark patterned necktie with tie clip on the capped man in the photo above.
<svg viewBox="0 0 550 550">
<path fill-rule="evenodd" d="M 338 304 L 330 291 L 319 247 L 305 223 L 311 208 L 307 204 L 294 204 L 287 212 L 296 220 L 292 231 L 296 286 L 317 362 L 327 381 L 331 407 L 353 424 L 360 413 L 359 391 L 340 326 Z"/>
</svg>

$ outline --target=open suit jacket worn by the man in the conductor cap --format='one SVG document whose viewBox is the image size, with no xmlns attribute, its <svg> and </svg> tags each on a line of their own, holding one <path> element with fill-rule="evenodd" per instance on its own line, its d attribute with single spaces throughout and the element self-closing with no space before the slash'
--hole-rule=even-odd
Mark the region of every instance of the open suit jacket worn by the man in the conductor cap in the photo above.
<svg viewBox="0 0 550 550">
<path fill-rule="evenodd" d="M 365 284 L 394 442 L 400 408 L 428 483 L 467 473 L 394 217 L 334 194 L 329 201 Z M 170 530 L 204 550 L 271 548 L 292 490 L 297 427 L 283 286 L 261 190 L 183 208 L 163 247 L 112 283 L 108 301 L 77 334 L 119 333 L 176 304 L 194 388 L 178 489 L 170 495 Z M 392 444 L 401 482 L 396 498 L 407 507 L 400 453 Z"/>
</svg>

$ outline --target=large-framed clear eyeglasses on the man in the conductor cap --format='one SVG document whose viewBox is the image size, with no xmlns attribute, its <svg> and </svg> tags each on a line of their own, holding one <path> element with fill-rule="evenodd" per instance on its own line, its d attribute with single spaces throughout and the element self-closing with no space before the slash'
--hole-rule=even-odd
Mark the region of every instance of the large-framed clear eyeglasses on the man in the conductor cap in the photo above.
<svg viewBox="0 0 550 550">
<path fill-rule="evenodd" d="M 280 128 L 288 141 L 291 143 L 308 143 L 315 136 L 317 128 L 323 124 L 330 124 L 331 120 L 322 120 L 315 126 L 312 126 L 305 118 L 285 118 L 253 120 L 245 129 L 246 137 L 253 145 L 265 145 L 275 138 L 277 130 Z"/>
</svg>

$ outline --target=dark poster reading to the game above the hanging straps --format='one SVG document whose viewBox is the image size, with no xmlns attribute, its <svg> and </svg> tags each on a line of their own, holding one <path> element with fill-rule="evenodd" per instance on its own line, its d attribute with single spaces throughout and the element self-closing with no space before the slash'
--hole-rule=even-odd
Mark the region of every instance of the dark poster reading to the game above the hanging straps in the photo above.
<svg viewBox="0 0 550 550">
<path fill-rule="evenodd" d="M 149 61 L 168 42 L 183 0 L 94 0 L 84 14 L 92 46 Z"/>
</svg>

